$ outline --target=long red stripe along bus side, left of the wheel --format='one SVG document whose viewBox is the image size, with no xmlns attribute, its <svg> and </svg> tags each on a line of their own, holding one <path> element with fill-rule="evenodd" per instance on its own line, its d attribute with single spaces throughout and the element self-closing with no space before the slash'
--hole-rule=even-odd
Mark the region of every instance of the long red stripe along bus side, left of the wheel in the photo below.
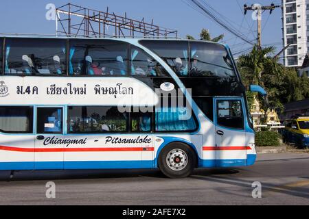
<svg viewBox="0 0 309 219">
<path fill-rule="evenodd" d="M 155 151 L 155 148 L 80 148 L 80 149 L 27 149 L 12 146 L 0 146 L 1 151 L 19 152 L 104 152 L 104 151 Z"/>
</svg>

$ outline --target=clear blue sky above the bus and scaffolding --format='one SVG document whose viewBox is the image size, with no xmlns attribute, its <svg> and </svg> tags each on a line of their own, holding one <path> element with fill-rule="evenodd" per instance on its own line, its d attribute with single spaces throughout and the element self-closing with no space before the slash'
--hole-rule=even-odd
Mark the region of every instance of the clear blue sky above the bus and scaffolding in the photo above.
<svg viewBox="0 0 309 219">
<path fill-rule="evenodd" d="M 280 0 L 204 0 L 216 11 L 225 17 L 234 28 L 238 29 L 246 38 L 254 40 L 256 38 L 257 22 L 251 17 L 252 12 L 246 16 L 243 13 L 243 5 L 260 3 L 270 5 L 280 4 Z M 187 34 L 198 38 L 201 29 L 208 29 L 211 36 L 216 37 L 224 34 L 223 42 L 229 44 L 233 53 L 238 53 L 250 47 L 239 38 L 235 38 L 226 29 L 211 21 L 205 14 L 197 12 L 186 0 L 1 0 L 0 7 L 0 33 L 21 33 L 21 34 L 55 34 L 55 21 L 47 21 L 45 14 L 46 5 L 54 3 L 56 7 L 66 3 L 82 5 L 87 8 L 124 15 L 127 17 L 151 23 L 153 19 L 155 25 L 168 27 L 179 31 L 179 36 L 185 38 Z M 277 8 L 273 14 L 269 12 L 262 14 L 262 44 L 272 44 L 277 49 L 282 48 L 282 10 Z"/>
</svg>

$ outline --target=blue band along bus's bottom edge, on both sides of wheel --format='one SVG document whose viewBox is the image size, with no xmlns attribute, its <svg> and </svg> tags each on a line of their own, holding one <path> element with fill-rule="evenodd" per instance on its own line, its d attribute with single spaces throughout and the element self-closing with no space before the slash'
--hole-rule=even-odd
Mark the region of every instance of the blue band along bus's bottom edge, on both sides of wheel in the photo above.
<svg viewBox="0 0 309 219">
<path fill-rule="evenodd" d="M 249 166 L 256 155 L 247 159 L 200 159 L 200 167 Z M 143 169 L 154 168 L 154 161 L 84 161 L 84 162 L 1 162 L 0 170 L 77 170 L 77 169 Z"/>
</svg>

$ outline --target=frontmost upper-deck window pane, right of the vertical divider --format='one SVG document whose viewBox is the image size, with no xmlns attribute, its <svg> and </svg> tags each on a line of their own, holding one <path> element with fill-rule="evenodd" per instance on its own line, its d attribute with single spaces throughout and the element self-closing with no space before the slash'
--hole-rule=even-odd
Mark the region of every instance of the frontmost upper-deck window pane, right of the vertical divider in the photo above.
<svg viewBox="0 0 309 219">
<path fill-rule="evenodd" d="M 220 44 L 190 42 L 191 77 L 235 77 L 227 50 Z"/>
</svg>

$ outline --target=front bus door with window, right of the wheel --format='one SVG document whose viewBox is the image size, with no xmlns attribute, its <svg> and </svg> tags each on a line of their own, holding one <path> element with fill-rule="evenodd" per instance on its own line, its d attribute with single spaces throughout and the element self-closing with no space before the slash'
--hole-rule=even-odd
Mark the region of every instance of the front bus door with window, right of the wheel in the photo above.
<svg viewBox="0 0 309 219">
<path fill-rule="evenodd" d="M 216 166 L 246 165 L 247 147 L 242 99 L 215 98 Z"/>
</svg>

